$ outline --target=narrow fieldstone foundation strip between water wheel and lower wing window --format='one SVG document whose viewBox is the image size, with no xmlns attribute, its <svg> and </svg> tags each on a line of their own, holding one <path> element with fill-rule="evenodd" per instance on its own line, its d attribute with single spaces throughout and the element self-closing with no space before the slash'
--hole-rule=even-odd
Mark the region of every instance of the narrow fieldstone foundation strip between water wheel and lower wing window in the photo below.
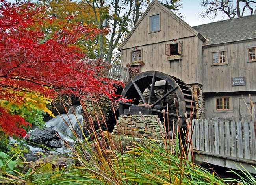
<svg viewBox="0 0 256 185">
<path fill-rule="evenodd" d="M 204 101 L 204 94 L 202 94 L 202 85 L 200 84 L 189 84 L 188 85 L 190 90 L 194 86 L 193 96 L 195 98 L 195 102 L 198 102 L 197 106 L 197 119 L 205 118 L 205 101 Z M 199 96 L 197 96 L 197 89 L 199 89 Z"/>
</svg>

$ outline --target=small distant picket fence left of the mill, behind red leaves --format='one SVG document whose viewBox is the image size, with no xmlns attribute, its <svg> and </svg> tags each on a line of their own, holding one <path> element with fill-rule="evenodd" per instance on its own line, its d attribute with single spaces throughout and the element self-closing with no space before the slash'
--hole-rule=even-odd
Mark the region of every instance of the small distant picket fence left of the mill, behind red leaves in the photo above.
<svg viewBox="0 0 256 185">
<path fill-rule="evenodd" d="M 129 68 L 112 63 L 112 68 L 108 70 L 108 78 L 112 78 L 115 80 L 128 81 Z"/>
</svg>

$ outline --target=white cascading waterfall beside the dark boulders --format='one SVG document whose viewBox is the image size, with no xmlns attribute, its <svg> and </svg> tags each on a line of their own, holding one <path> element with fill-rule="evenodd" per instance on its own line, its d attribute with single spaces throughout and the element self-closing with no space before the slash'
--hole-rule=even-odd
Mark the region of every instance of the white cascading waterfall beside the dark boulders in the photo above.
<svg viewBox="0 0 256 185">
<path fill-rule="evenodd" d="M 80 129 L 78 122 L 82 126 L 83 124 L 82 106 L 74 105 L 73 107 L 71 106 L 69 108 L 68 114 L 57 115 L 55 118 L 52 118 L 51 120 L 46 122 L 45 125 L 48 128 L 52 128 L 58 131 L 59 135 L 61 135 L 63 139 L 67 139 L 70 141 L 72 140 L 71 138 L 74 138 L 74 135 L 72 133 L 73 129 L 75 133 L 82 138 L 82 131 Z"/>
</svg>

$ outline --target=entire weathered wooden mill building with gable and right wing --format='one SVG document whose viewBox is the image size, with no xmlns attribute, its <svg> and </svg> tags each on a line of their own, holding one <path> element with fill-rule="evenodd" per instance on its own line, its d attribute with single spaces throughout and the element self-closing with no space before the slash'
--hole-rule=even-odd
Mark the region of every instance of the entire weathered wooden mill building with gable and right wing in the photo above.
<svg viewBox="0 0 256 185">
<path fill-rule="evenodd" d="M 191 27 L 153 0 L 119 49 L 122 66 L 198 87 L 197 118 L 251 120 L 241 96 L 256 101 L 256 15 Z"/>
</svg>

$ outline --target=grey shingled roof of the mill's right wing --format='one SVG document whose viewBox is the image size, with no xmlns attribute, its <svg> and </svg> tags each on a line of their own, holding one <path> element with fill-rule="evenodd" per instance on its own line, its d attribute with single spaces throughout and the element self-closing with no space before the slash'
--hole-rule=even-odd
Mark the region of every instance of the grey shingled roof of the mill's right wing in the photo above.
<svg viewBox="0 0 256 185">
<path fill-rule="evenodd" d="M 193 28 L 208 39 L 203 46 L 255 39 L 256 15 L 221 20 Z"/>
</svg>

